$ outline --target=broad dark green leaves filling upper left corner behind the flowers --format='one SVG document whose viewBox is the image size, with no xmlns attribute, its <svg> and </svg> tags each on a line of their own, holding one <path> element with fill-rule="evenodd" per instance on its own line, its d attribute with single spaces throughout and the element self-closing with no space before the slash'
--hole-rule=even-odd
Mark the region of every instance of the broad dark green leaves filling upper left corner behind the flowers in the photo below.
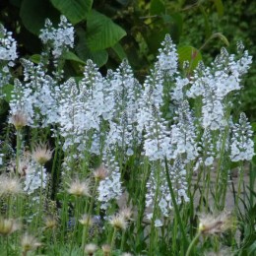
<svg viewBox="0 0 256 256">
<path fill-rule="evenodd" d="M 126 57 L 123 45 L 119 43 L 126 35 L 125 30 L 107 16 L 100 4 L 95 3 L 96 10 L 92 10 L 93 3 L 93 0 L 9 0 L 1 3 L 0 22 L 15 32 L 20 42 L 19 52 L 33 55 L 32 61 L 36 62 L 34 57 L 41 51 L 37 35 L 44 27 L 45 19 L 56 26 L 60 15 L 66 16 L 76 25 L 78 43 L 75 51 L 64 56 L 65 66 L 78 75 L 81 72 L 79 65 L 90 58 L 101 67 L 109 57 L 115 65 Z"/>
</svg>

